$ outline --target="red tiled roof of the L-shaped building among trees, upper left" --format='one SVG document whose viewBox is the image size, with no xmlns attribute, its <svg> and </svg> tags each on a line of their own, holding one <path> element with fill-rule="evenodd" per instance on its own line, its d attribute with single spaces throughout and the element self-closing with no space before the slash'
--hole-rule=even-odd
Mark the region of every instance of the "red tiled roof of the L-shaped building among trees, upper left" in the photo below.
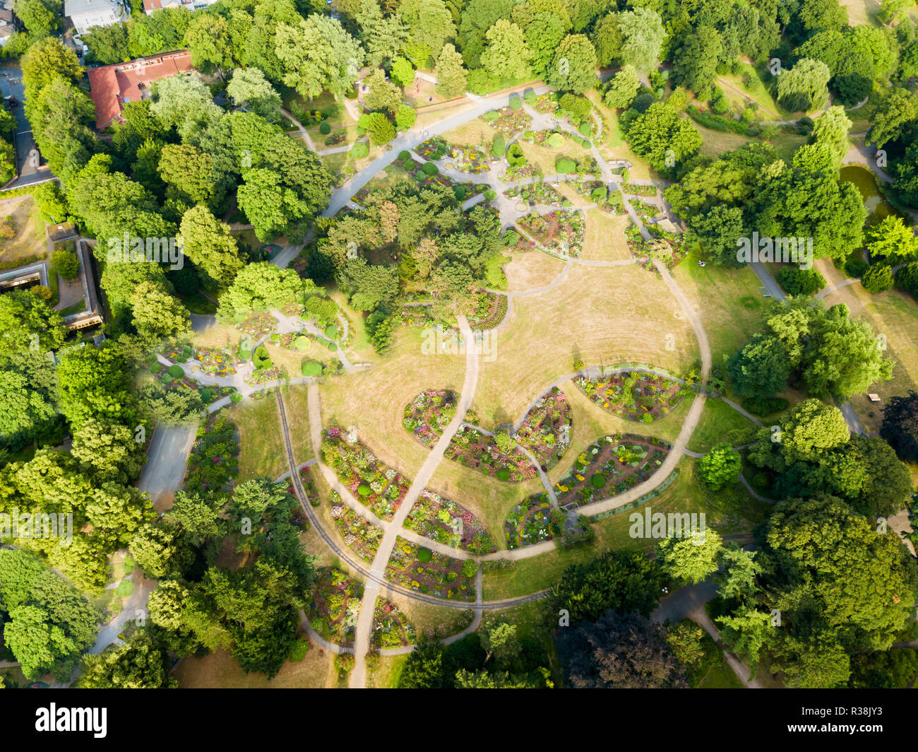
<svg viewBox="0 0 918 752">
<path fill-rule="evenodd" d="M 170 75 L 192 70 L 191 52 L 179 50 L 139 58 L 130 63 L 116 63 L 90 68 L 90 97 L 95 105 L 95 127 L 102 131 L 113 120 L 119 120 L 128 102 L 139 102 L 141 84 L 149 84 Z"/>
</svg>

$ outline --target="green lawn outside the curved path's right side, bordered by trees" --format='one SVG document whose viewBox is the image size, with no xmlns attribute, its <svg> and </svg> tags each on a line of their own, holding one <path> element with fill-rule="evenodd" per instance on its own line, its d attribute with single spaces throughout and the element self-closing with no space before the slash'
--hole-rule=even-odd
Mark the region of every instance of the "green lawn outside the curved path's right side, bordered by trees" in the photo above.
<svg viewBox="0 0 918 752">
<path fill-rule="evenodd" d="M 698 250 L 692 250 L 673 269 L 673 277 L 699 314 L 711 345 L 714 365 L 733 355 L 762 328 L 768 300 L 758 291 L 756 273 L 748 267 L 732 269 L 711 261 L 700 267 Z"/>
</svg>

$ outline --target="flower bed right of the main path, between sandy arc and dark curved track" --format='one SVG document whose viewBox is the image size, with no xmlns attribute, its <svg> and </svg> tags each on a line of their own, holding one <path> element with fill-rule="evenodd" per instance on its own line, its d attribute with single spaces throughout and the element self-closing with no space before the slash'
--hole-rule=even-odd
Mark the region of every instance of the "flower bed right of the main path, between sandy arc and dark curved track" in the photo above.
<svg viewBox="0 0 918 752">
<path fill-rule="evenodd" d="M 462 561 L 398 538 L 386 578 L 435 598 L 475 600 L 476 562 Z"/>
</svg>

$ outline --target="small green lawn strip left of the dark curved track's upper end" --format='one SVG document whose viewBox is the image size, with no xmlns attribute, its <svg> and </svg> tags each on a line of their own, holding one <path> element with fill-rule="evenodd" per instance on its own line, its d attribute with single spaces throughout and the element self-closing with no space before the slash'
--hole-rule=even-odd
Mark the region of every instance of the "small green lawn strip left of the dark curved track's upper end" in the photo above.
<svg viewBox="0 0 918 752">
<path fill-rule="evenodd" d="M 274 395 L 243 400 L 230 408 L 229 417 L 239 430 L 240 481 L 274 480 L 289 469 Z"/>
</svg>

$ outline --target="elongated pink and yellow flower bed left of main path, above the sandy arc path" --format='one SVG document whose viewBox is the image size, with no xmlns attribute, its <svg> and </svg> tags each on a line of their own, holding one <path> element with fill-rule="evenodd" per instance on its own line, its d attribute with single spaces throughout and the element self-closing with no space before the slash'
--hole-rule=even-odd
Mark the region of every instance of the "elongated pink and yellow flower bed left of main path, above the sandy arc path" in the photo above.
<svg viewBox="0 0 918 752">
<path fill-rule="evenodd" d="M 348 443 L 340 428 L 322 431 L 322 460 L 356 499 L 376 517 L 390 521 L 408 493 L 409 482 L 359 441 Z"/>
</svg>

